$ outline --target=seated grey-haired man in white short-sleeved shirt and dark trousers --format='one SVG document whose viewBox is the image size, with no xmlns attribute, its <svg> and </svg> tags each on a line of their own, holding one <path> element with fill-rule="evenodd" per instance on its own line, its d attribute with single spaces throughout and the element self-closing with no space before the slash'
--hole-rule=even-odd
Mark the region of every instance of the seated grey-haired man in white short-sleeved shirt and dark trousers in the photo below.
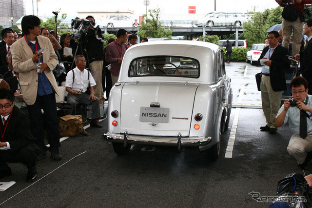
<svg viewBox="0 0 312 208">
<path fill-rule="evenodd" d="M 66 76 L 67 102 L 71 104 L 70 114 L 75 112 L 76 103 L 92 104 L 92 121 L 90 126 L 101 128 L 97 119 L 100 116 L 99 99 L 94 95 L 93 86 L 96 85 L 92 74 L 85 69 L 86 60 L 83 55 L 74 58 L 76 68 L 69 71 Z M 90 95 L 86 93 L 90 83 Z"/>
</svg>

